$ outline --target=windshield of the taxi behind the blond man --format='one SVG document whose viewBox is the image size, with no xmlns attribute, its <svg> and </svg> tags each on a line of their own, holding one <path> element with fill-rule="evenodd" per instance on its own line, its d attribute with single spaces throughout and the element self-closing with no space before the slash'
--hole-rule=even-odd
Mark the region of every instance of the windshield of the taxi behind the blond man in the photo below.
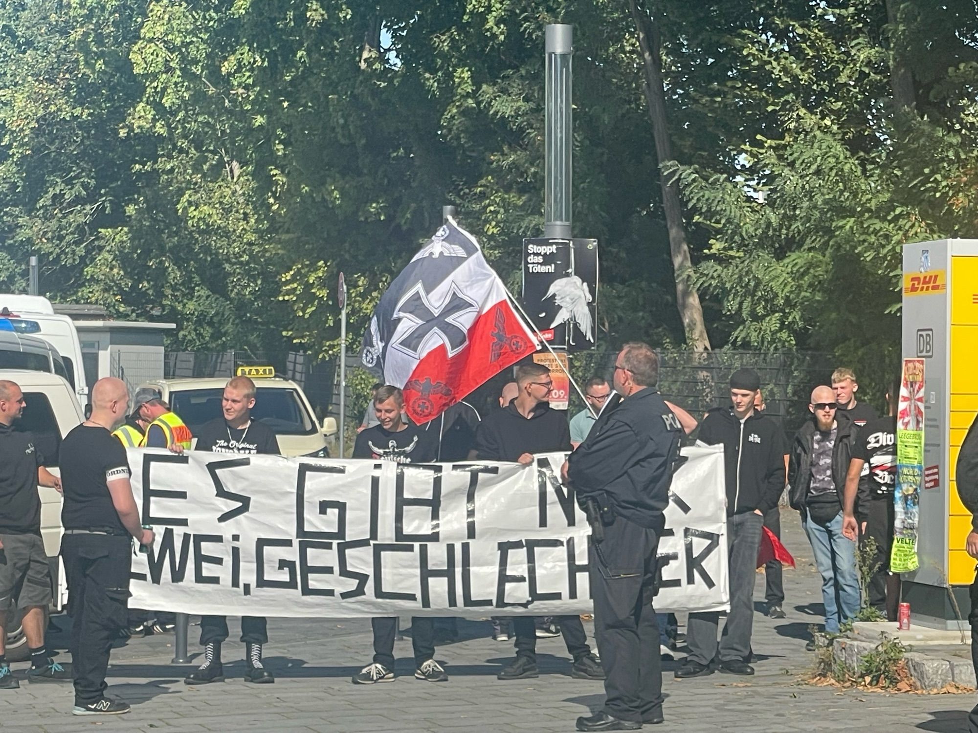
<svg viewBox="0 0 978 733">
<path fill-rule="evenodd" d="M 187 423 L 192 433 L 221 416 L 223 387 L 188 389 L 170 393 L 170 407 Z M 316 423 L 294 389 L 258 387 L 251 416 L 268 425 L 277 435 L 313 435 Z"/>
</svg>

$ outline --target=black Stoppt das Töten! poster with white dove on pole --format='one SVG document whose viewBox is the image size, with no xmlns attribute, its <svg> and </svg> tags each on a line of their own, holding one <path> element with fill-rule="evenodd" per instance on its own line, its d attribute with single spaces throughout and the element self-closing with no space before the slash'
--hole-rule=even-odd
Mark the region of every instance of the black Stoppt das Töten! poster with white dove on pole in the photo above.
<svg viewBox="0 0 978 733">
<path fill-rule="evenodd" d="M 523 239 L 523 307 L 553 348 L 598 338 L 598 239 Z"/>
</svg>

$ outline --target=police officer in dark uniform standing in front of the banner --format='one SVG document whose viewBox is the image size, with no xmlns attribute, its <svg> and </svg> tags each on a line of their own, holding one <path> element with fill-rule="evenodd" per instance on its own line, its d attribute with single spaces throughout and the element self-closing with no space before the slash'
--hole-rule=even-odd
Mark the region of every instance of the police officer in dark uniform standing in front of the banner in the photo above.
<svg viewBox="0 0 978 733">
<path fill-rule="evenodd" d="M 604 707 L 577 718 L 578 730 L 638 730 L 663 720 L 655 552 L 683 427 L 655 389 L 658 378 L 651 347 L 625 344 L 613 379 L 621 402 L 602 410 L 563 466 L 594 528 L 591 593 L 607 672 Z"/>
</svg>

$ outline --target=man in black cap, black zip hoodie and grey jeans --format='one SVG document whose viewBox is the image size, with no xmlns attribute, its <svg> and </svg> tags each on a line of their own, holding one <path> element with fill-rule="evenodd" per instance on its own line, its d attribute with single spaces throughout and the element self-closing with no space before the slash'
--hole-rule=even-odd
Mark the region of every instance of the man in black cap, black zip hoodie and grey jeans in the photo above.
<svg viewBox="0 0 978 733">
<path fill-rule="evenodd" d="M 717 643 L 720 614 L 689 614 L 689 657 L 676 679 L 720 670 L 753 674 L 747 664 L 754 624 L 754 575 L 764 513 L 778 506 L 784 489 L 784 454 L 778 424 L 754 411 L 761 378 L 753 369 L 737 369 L 731 377 L 731 408 L 710 410 L 699 427 L 699 440 L 724 446 L 727 487 L 727 547 L 730 558 L 731 610 L 723 639 Z"/>
</svg>

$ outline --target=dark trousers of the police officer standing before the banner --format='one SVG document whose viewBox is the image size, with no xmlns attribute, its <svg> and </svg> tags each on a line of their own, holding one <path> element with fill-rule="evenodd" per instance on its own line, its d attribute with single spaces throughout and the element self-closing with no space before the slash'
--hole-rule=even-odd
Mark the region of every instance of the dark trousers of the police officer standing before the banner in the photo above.
<svg viewBox="0 0 978 733">
<path fill-rule="evenodd" d="M 662 711 L 659 625 L 652 608 L 659 532 L 617 517 L 590 550 L 595 635 L 600 639 L 604 712 L 649 720 Z"/>
</svg>

